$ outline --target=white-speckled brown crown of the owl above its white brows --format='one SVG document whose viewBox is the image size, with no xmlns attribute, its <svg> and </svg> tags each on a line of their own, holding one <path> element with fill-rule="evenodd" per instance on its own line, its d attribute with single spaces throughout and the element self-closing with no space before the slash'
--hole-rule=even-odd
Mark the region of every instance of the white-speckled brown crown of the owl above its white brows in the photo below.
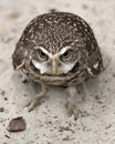
<svg viewBox="0 0 115 144">
<path fill-rule="evenodd" d="M 87 24 L 81 18 L 70 13 L 49 13 L 36 17 L 25 28 L 21 42 L 25 45 L 43 47 L 51 53 L 62 48 L 83 42 Z M 84 40 L 83 40 L 84 39 Z"/>
</svg>

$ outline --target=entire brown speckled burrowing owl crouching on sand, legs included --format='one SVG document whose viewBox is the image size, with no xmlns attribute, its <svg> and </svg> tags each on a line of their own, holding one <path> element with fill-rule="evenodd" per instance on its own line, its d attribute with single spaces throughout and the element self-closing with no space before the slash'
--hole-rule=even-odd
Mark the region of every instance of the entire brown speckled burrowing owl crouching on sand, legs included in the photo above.
<svg viewBox="0 0 115 144">
<path fill-rule="evenodd" d="M 44 85 L 65 85 L 70 97 L 75 96 L 76 85 L 103 70 L 100 47 L 90 25 L 80 17 L 54 12 L 34 18 L 24 29 L 12 55 L 14 70 L 22 70 L 29 78 Z M 71 100 L 71 99 L 70 99 Z M 39 96 L 30 103 L 34 109 Z M 70 101 L 67 112 L 76 103 Z"/>
</svg>

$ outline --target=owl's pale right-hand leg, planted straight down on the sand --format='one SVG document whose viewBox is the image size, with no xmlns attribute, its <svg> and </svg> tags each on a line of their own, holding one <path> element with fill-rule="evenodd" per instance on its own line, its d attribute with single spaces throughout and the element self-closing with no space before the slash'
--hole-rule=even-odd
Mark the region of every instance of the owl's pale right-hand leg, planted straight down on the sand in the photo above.
<svg viewBox="0 0 115 144">
<path fill-rule="evenodd" d="M 74 119 L 76 120 L 79 116 L 79 110 L 76 107 L 76 94 L 77 94 L 76 88 L 69 86 L 67 92 L 70 94 L 70 96 L 67 99 L 67 104 L 66 104 L 67 115 L 72 116 L 72 114 L 73 114 Z"/>
</svg>

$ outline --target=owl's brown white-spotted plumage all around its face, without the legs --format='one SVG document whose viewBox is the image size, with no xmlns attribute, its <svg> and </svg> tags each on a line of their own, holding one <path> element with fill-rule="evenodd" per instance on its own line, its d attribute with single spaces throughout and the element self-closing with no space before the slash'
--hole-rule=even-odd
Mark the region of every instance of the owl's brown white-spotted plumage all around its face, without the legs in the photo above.
<svg viewBox="0 0 115 144">
<path fill-rule="evenodd" d="M 70 45 L 81 55 L 75 66 L 66 74 L 40 74 L 31 64 L 31 53 L 36 47 L 45 48 L 55 54 Z M 74 58 L 73 53 L 73 60 Z M 98 44 L 90 25 L 80 17 L 54 12 L 34 18 L 23 31 L 12 56 L 14 69 L 22 68 L 34 81 L 48 84 L 71 85 L 83 82 L 103 70 L 103 60 Z M 72 61 L 72 60 L 71 60 Z"/>
</svg>

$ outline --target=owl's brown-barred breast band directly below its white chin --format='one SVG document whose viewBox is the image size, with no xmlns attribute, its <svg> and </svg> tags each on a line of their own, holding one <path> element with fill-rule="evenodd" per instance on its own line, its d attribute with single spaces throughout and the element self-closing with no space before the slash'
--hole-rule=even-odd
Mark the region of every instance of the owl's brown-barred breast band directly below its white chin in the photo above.
<svg viewBox="0 0 115 144">
<path fill-rule="evenodd" d="M 33 66 L 28 66 L 28 76 L 31 78 L 33 81 L 42 82 L 48 85 L 76 85 L 82 83 L 85 79 L 88 78 L 87 71 L 85 69 L 80 69 L 77 71 L 71 71 L 67 74 L 61 75 L 48 75 L 48 74 L 40 74 Z M 24 73 L 27 71 L 23 71 Z"/>
</svg>

